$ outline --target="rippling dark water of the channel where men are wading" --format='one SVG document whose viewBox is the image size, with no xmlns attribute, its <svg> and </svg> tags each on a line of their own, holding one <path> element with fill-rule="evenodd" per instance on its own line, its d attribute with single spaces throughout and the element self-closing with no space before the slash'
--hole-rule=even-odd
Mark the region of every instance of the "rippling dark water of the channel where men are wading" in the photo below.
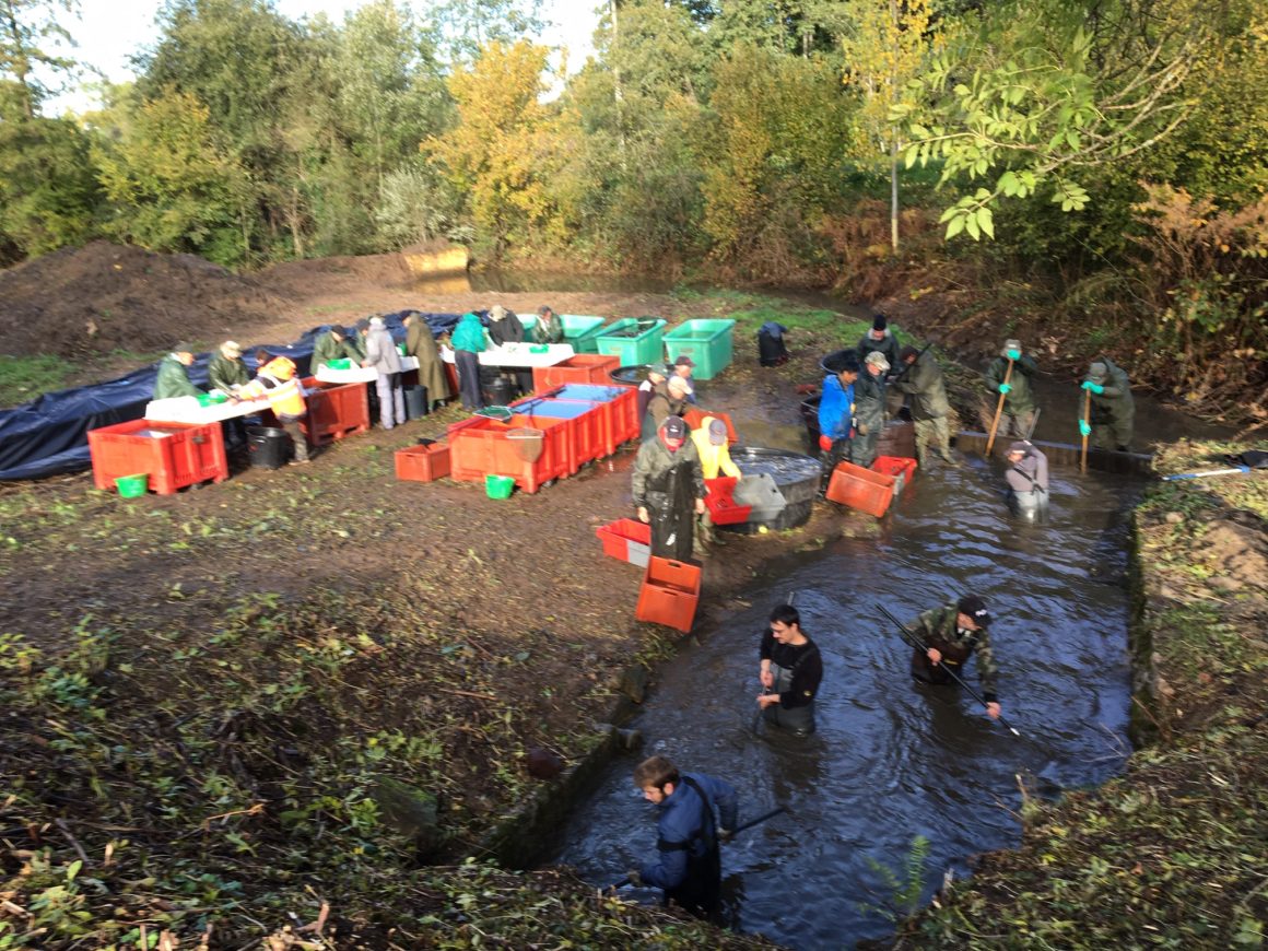
<svg viewBox="0 0 1268 951">
<path fill-rule="evenodd" d="M 656 809 L 630 771 L 663 753 L 733 782 L 742 820 L 787 806 L 724 847 L 729 923 L 795 948 L 848 947 L 890 931 L 894 889 L 877 865 L 902 880 L 915 836 L 929 841 L 927 900 L 967 856 L 1018 843 L 1019 772 L 1040 791 L 1115 775 L 1129 751 L 1125 514 L 1137 487 L 1055 472 L 1049 522 L 1035 526 L 1009 517 L 1000 483 L 981 459 L 923 473 L 879 534 L 765 571 L 747 604 L 657 672 L 633 724 L 645 749 L 612 766 L 553 860 L 602 885 L 649 857 Z M 966 590 L 995 612 L 1000 699 L 1023 741 L 955 689 L 912 681 L 908 648 L 874 610 L 909 619 Z M 753 729 L 758 638 L 790 591 L 825 667 L 819 732 L 800 741 Z"/>
</svg>

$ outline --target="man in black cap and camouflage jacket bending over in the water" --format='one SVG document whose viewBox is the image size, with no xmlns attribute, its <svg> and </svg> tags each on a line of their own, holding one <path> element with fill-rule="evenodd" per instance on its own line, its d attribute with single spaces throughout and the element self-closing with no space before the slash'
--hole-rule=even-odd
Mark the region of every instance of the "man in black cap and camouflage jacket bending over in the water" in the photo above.
<svg viewBox="0 0 1268 951">
<path fill-rule="evenodd" d="M 978 680 L 981 681 L 981 699 L 987 701 L 987 714 L 998 719 L 1000 714 L 999 697 L 995 694 L 995 677 L 999 668 L 990 649 L 990 612 L 987 602 L 976 595 L 965 595 L 945 607 L 924 611 L 907 628 L 927 648 L 913 649 L 912 676 L 926 683 L 951 683 L 946 668 L 960 668 L 974 653 L 978 654 Z"/>
</svg>

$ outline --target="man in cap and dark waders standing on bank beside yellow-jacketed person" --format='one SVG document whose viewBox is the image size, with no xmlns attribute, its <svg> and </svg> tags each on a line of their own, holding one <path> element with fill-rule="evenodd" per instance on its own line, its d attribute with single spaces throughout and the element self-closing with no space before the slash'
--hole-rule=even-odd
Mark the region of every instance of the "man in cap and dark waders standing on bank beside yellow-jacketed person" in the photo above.
<svg viewBox="0 0 1268 951">
<path fill-rule="evenodd" d="M 705 508 L 705 477 L 681 416 L 667 416 L 634 459 L 634 505 L 652 525 L 652 554 L 685 562 L 697 515 Z"/>
</svg>

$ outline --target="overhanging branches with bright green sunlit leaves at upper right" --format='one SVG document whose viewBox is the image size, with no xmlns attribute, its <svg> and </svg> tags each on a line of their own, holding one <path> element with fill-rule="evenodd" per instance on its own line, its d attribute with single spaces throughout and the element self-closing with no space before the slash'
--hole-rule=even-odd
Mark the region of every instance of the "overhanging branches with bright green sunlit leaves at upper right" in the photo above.
<svg viewBox="0 0 1268 951">
<path fill-rule="evenodd" d="M 1002 198 L 1042 190 L 1061 210 L 1080 210 L 1090 200 L 1080 170 L 1122 162 L 1184 120 L 1193 107 L 1184 82 L 1210 37 L 1198 4 L 1155 8 L 1163 15 L 1145 32 L 1115 9 L 990 8 L 912 80 L 913 96 L 891 109 L 913 139 L 907 165 L 941 161 L 943 181 L 984 183 L 942 216 L 947 238 L 994 237 Z"/>
</svg>

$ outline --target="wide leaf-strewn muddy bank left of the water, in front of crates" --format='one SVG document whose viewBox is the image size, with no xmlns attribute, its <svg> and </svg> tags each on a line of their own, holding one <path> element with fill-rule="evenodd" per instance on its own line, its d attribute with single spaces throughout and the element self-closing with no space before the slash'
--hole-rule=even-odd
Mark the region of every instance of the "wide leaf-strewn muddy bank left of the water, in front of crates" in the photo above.
<svg viewBox="0 0 1268 951">
<path fill-rule="evenodd" d="M 796 425 L 833 316 L 681 304 L 741 322 L 719 406 L 752 388 L 756 326 L 798 328 L 805 365 L 761 397 Z M 628 476 L 506 502 L 394 478 L 458 418 L 170 497 L 0 486 L 0 947 L 763 945 L 489 864 L 672 633 L 633 620 L 638 574 L 593 536 Z M 794 544 L 729 547 L 702 612 Z"/>
</svg>

